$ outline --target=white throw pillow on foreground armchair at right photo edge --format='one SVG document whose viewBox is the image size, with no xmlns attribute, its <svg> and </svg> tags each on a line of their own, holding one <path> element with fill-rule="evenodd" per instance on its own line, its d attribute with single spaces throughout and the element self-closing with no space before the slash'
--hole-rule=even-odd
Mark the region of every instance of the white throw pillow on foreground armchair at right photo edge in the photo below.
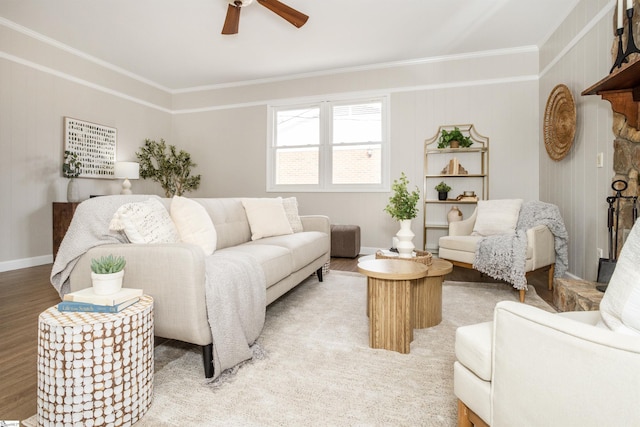
<svg viewBox="0 0 640 427">
<path fill-rule="evenodd" d="M 622 247 L 611 280 L 600 302 L 598 326 L 629 335 L 640 335 L 640 222 L 631 229 Z"/>
</svg>

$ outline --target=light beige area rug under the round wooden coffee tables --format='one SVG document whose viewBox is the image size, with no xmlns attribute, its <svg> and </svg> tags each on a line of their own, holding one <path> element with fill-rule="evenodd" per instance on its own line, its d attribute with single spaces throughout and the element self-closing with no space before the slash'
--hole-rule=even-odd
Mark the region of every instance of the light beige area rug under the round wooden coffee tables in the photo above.
<svg viewBox="0 0 640 427">
<path fill-rule="evenodd" d="M 555 311 L 529 289 L 527 304 Z M 364 276 L 310 277 L 268 307 L 262 357 L 219 386 L 207 384 L 200 348 L 156 347 L 153 403 L 136 426 L 454 426 L 455 330 L 491 320 L 503 300 L 518 292 L 445 282 L 442 322 L 416 329 L 400 354 L 369 348 Z"/>
</svg>

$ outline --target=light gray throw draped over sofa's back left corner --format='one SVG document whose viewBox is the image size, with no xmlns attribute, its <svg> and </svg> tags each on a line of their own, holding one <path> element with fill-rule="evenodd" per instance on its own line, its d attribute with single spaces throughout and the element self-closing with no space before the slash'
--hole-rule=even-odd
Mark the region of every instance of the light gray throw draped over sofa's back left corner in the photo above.
<svg viewBox="0 0 640 427">
<path fill-rule="evenodd" d="M 85 252 L 100 245 L 129 243 L 124 233 L 109 230 L 111 218 L 118 208 L 125 203 L 142 202 L 149 197 L 157 196 L 101 196 L 78 205 L 51 269 L 51 284 L 61 298 L 69 292 L 69 276 Z"/>
</svg>

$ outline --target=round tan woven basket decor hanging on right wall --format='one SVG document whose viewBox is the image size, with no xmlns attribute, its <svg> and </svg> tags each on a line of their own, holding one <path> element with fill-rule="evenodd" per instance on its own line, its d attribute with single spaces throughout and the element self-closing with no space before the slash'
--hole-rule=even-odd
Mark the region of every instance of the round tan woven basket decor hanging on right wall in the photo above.
<svg viewBox="0 0 640 427">
<path fill-rule="evenodd" d="M 569 88 L 559 84 L 553 88 L 544 109 L 544 146 L 553 160 L 562 160 L 576 134 L 576 104 Z"/>
</svg>

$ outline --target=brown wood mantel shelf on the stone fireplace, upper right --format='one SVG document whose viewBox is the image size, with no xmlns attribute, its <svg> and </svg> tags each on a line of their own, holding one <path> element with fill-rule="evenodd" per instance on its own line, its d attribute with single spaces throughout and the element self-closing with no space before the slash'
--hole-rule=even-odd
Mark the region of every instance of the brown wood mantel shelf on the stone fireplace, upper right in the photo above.
<svg viewBox="0 0 640 427">
<path fill-rule="evenodd" d="M 611 103 L 611 109 L 627 118 L 629 126 L 638 129 L 640 122 L 640 61 L 609 74 L 582 92 L 582 95 L 600 95 Z"/>
</svg>

